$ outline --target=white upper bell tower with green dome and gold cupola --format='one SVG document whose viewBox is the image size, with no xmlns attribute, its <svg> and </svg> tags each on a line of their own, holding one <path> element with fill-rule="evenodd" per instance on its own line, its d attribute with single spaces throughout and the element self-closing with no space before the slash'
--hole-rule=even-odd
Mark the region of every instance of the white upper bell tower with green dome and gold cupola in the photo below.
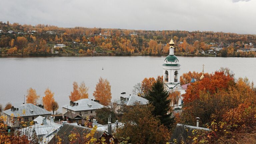
<svg viewBox="0 0 256 144">
<path fill-rule="evenodd" d="M 174 55 L 174 42 L 172 38 L 169 44 L 169 55 L 165 58 L 163 64 L 163 82 L 168 87 L 168 90 L 180 85 L 180 64 L 178 58 Z"/>
</svg>

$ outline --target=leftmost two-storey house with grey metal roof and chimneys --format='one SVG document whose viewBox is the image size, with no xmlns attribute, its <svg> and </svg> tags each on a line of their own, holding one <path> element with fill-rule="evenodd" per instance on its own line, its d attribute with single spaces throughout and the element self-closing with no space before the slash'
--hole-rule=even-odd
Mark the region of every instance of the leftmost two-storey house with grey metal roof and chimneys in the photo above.
<svg viewBox="0 0 256 144">
<path fill-rule="evenodd" d="M 7 117 L 7 125 L 10 127 L 20 127 L 20 121 L 17 117 L 21 117 L 21 121 L 27 122 L 32 121 L 38 116 L 50 117 L 51 112 L 44 109 L 42 105 L 33 105 L 31 103 L 22 104 L 19 107 L 15 108 L 12 106 L 10 109 L 2 112 L 3 116 Z M 14 123 L 12 123 L 12 117 Z"/>
</svg>

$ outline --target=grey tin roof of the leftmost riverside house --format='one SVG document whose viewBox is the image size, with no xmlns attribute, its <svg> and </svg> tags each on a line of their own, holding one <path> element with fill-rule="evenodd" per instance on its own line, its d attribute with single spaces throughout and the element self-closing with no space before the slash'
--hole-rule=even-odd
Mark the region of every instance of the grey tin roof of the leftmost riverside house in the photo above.
<svg viewBox="0 0 256 144">
<path fill-rule="evenodd" d="M 5 110 L 3 111 L 3 113 L 7 114 L 7 115 L 11 115 L 13 114 L 14 117 L 18 117 L 18 116 L 35 116 L 35 115 L 48 115 L 51 114 L 51 112 L 42 109 L 36 105 L 33 105 L 31 103 L 27 103 L 27 104 L 22 104 L 19 107 L 19 110 L 13 110 L 11 111 L 11 109 Z M 25 114 L 23 114 L 23 110 L 25 110 Z M 32 112 L 33 111 L 33 112 Z"/>
</svg>

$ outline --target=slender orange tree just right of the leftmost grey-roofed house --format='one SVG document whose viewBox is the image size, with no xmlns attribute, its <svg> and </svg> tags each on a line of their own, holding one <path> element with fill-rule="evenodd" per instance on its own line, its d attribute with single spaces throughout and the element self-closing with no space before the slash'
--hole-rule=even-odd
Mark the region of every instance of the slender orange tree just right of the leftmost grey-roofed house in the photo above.
<svg viewBox="0 0 256 144">
<path fill-rule="evenodd" d="M 52 102 L 54 102 L 54 93 L 51 92 L 51 90 L 49 88 L 47 88 L 44 92 L 45 96 L 42 98 L 42 101 L 43 101 L 43 105 L 44 105 L 44 108 L 48 111 L 51 111 L 51 105 L 52 105 Z"/>
</svg>

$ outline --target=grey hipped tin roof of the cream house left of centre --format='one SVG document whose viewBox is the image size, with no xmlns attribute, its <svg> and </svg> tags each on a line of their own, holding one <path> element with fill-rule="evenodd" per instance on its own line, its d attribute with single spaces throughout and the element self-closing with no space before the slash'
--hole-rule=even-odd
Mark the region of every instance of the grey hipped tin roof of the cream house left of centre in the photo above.
<svg viewBox="0 0 256 144">
<path fill-rule="evenodd" d="M 104 105 L 101 105 L 95 101 L 90 99 L 80 99 L 75 101 L 74 103 L 78 103 L 78 105 L 70 106 L 70 104 L 63 105 L 63 108 L 68 108 L 72 111 L 86 111 L 86 110 L 94 110 L 94 109 L 101 109 Z"/>
</svg>

